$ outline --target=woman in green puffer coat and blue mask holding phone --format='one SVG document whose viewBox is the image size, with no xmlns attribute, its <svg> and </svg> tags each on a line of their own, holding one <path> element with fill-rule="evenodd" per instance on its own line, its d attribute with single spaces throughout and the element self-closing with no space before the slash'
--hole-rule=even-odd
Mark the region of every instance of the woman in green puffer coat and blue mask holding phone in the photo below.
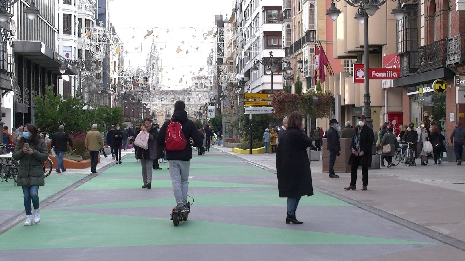
<svg viewBox="0 0 465 261">
<path fill-rule="evenodd" d="M 34 206 L 34 223 L 40 222 L 39 186 L 45 185 L 43 162 L 48 157 L 45 141 L 40 137 L 34 124 L 24 126 L 22 136 L 13 150 L 13 158 L 20 160 L 17 184 L 23 188 L 24 208 L 26 210 L 25 226 L 32 222 L 31 201 Z"/>
</svg>

